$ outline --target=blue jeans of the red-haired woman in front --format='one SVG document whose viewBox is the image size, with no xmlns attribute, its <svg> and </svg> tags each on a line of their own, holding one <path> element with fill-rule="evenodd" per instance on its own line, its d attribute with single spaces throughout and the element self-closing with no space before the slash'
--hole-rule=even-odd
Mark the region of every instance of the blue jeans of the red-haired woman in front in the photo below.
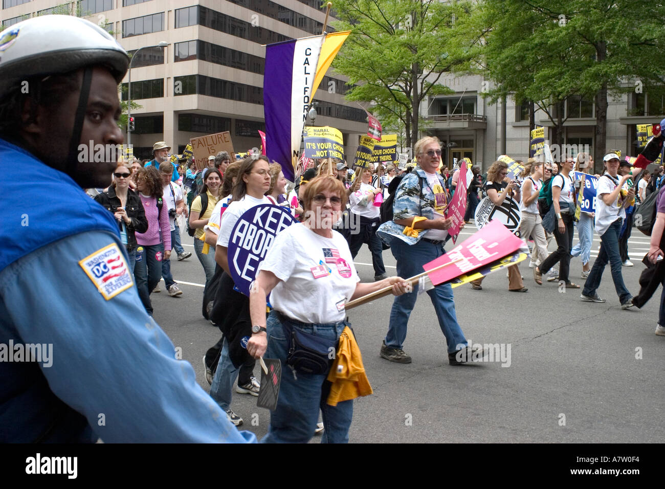
<svg viewBox="0 0 665 489">
<path fill-rule="evenodd" d="M 346 323 L 310 324 L 295 321 L 292 327 L 306 333 L 336 339 Z M 323 375 L 295 373 L 287 366 L 289 342 L 282 323 L 272 311 L 267 320 L 268 349 L 266 358 L 279 359 L 282 364 L 282 379 L 277 408 L 270 412 L 268 434 L 261 443 L 307 443 L 314 436 L 319 420 L 319 409 L 323 414 L 325 431 L 321 443 L 348 443 L 348 428 L 353 418 L 353 401 L 343 401 L 336 406 L 326 403 L 329 386 Z"/>
</svg>

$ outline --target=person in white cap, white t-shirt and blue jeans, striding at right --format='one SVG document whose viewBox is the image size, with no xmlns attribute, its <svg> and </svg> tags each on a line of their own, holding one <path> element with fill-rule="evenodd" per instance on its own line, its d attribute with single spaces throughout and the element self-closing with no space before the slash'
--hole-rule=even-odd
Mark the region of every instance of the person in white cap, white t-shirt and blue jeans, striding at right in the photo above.
<svg viewBox="0 0 665 489">
<path fill-rule="evenodd" d="M 602 278 L 602 271 L 610 262 L 612 281 L 621 303 L 621 309 L 633 306 L 632 296 L 621 275 L 621 256 L 619 253 L 619 232 L 626 217 L 626 207 L 634 200 L 635 189 L 626 192 L 622 190 L 623 184 L 630 178 L 626 174 L 619 178 L 619 157 L 615 153 L 608 153 L 602 159 L 605 165 L 604 174 L 598 179 L 596 194 L 596 231 L 600 235 L 600 249 L 598 257 L 591 267 L 589 277 L 584 284 L 581 298 L 588 302 L 604 302 L 597 293 Z"/>
</svg>

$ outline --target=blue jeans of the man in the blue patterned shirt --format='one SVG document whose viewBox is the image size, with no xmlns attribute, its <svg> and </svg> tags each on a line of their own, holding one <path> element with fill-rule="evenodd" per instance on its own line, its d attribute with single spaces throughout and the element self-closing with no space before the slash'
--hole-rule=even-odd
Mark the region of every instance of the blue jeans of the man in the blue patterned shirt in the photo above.
<svg viewBox="0 0 665 489">
<path fill-rule="evenodd" d="M 390 250 L 397 260 L 397 275 L 403 278 L 413 277 L 423 272 L 422 265 L 432 261 L 445 253 L 443 245 L 435 245 L 420 240 L 414 245 L 408 245 L 399 238 L 390 242 Z M 468 345 L 462 328 L 457 322 L 453 289 L 450 283 L 437 285 L 428 291 L 439 327 L 446 337 L 448 353 L 453 353 Z M 418 284 L 414 285 L 413 292 L 395 297 L 390 311 L 390 326 L 386 335 L 386 346 L 402 348 L 406 339 L 406 327 L 411 311 L 418 298 Z"/>
</svg>

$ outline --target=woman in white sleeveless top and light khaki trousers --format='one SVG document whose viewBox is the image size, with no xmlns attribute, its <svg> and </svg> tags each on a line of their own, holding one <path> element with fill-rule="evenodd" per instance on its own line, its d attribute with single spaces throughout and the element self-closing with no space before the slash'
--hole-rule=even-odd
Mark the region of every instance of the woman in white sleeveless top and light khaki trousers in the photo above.
<svg viewBox="0 0 665 489">
<path fill-rule="evenodd" d="M 533 238 L 533 251 L 531 252 L 531 263 L 533 265 L 533 279 L 538 285 L 543 285 L 543 277 L 539 277 L 535 267 L 547 258 L 547 239 L 543 229 L 543 219 L 538 212 L 538 196 L 543 186 L 543 162 L 536 158 L 529 158 L 527 166 L 522 172 L 524 182 L 522 184 L 522 199 L 519 202 L 519 210 L 522 220 L 519 232 L 525 242 Z"/>
</svg>

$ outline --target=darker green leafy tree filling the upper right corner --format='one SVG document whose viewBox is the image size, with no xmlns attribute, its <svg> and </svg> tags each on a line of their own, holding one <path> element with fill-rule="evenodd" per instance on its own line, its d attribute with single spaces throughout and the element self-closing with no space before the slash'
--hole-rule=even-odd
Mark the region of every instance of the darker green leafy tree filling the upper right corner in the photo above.
<svg viewBox="0 0 665 489">
<path fill-rule="evenodd" d="M 567 98 L 595 99 L 597 164 L 606 150 L 608 94 L 632 91 L 630 78 L 665 82 L 665 59 L 656 50 L 664 38 L 662 4 L 487 0 L 476 15 L 489 28 L 483 59 L 486 76 L 497 84 L 491 100 L 513 94 L 533 101 L 560 130 Z"/>
</svg>

